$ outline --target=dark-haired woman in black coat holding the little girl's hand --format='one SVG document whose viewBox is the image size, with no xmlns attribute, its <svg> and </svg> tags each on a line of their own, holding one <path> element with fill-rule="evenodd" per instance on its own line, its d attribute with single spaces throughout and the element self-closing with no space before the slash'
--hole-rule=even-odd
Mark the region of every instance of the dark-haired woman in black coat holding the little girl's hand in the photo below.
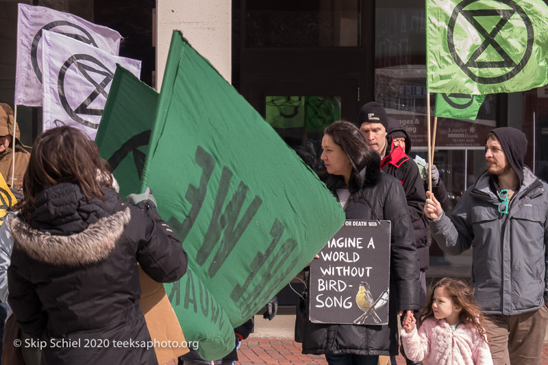
<svg viewBox="0 0 548 365">
<path fill-rule="evenodd" d="M 397 355 L 397 314 L 419 309 L 419 258 L 400 182 L 380 169 L 380 156 L 360 129 L 338 121 L 324 131 L 321 160 L 327 188 L 343 205 L 347 219 L 388 220 L 390 302 L 388 325 L 336 325 L 305 321 L 303 353 L 325 354 L 329 365 L 376 365 L 379 355 Z"/>
</svg>

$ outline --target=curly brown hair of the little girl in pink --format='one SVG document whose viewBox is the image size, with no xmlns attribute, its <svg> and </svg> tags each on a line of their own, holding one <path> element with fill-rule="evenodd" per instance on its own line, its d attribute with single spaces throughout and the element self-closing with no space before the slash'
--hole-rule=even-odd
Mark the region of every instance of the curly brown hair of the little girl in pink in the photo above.
<svg viewBox="0 0 548 365">
<path fill-rule="evenodd" d="M 482 310 L 479 309 L 475 302 L 474 293 L 470 286 L 464 283 L 464 281 L 452 279 L 450 277 L 444 277 L 436 283 L 434 288 L 432 288 L 432 292 L 417 321 L 417 327 L 419 327 L 426 318 L 434 318 L 432 304 L 434 303 L 434 290 L 436 290 L 436 288 L 443 288 L 447 297 L 453 302 L 453 305 L 462 308 L 459 314 L 460 322 L 475 327 L 482 338 L 487 342 L 488 335 L 485 331 L 486 321 L 482 315 Z"/>
</svg>

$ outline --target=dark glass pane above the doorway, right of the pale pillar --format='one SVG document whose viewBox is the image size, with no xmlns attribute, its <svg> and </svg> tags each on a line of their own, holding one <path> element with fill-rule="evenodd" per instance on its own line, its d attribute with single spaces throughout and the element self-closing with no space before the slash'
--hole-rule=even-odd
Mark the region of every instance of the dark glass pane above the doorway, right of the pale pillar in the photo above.
<svg viewBox="0 0 548 365">
<path fill-rule="evenodd" d="M 247 0 L 246 47 L 358 47 L 359 0 Z"/>
</svg>

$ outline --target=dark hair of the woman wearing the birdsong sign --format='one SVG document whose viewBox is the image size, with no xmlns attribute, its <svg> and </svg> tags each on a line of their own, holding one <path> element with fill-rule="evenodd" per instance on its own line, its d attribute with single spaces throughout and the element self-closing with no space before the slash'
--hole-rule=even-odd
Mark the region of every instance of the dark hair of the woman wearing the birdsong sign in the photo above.
<svg viewBox="0 0 548 365">
<path fill-rule="evenodd" d="M 347 154 L 352 165 L 348 188 L 351 192 L 355 192 L 363 183 L 360 171 L 373 160 L 377 152 L 367 145 L 362 131 L 348 121 L 336 121 L 332 123 L 325 128 L 323 134 L 327 134 L 333 138 L 333 142 L 338 144 Z"/>
</svg>

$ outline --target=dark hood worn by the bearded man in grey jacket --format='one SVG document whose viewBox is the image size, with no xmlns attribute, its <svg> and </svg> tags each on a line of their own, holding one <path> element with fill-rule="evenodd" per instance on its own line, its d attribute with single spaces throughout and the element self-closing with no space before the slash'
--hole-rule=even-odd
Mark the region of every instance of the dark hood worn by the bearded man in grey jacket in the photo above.
<svg viewBox="0 0 548 365">
<path fill-rule="evenodd" d="M 525 166 L 525 152 L 527 152 L 527 137 L 525 134 L 512 127 L 491 129 L 506 155 L 506 160 L 518 175 L 519 186 L 523 183 L 523 166 Z M 486 140 L 487 142 L 487 140 Z"/>
</svg>

